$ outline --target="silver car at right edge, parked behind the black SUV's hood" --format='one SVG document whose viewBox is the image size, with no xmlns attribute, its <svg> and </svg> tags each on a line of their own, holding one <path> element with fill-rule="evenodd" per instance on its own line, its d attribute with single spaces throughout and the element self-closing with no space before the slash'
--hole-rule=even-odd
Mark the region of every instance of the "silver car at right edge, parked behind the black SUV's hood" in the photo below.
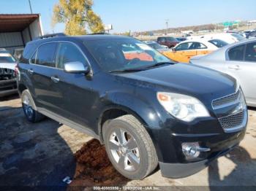
<svg viewBox="0 0 256 191">
<path fill-rule="evenodd" d="M 248 106 L 256 106 L 256 38 L 229 44 L 205 56 L 191 58 L 190 63 L 235 77 Z"/>
</svg>

